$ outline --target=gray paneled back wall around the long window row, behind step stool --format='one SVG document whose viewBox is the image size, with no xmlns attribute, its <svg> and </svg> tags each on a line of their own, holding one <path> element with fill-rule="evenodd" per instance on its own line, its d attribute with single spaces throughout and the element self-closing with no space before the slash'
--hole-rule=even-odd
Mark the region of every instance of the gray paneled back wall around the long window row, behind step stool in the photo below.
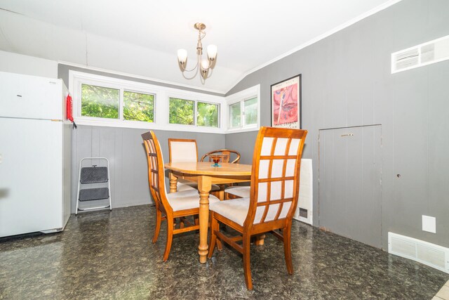
<svg viewBox="0 0 449 300">
<path fill-rule="evenodd" d="M 69 86 L 69 70 L 139 81 L 146 84 L 168 86 L 175 89 L 184 89 L 179 86 L 159 84 L 154 81 L 134 79 L 60 64 L 58 65 L 58 78 L 62 78 L 66 86 Z M 184 90 L 198 91 L 195 89 Z M 216 93 L 210 94 L 218 95 Z M 148 187 L 147 157 L 145 156 L 145 150 L 140 136 L 145 131 L 148 130 L 78 126 L 78 129 L 72 132 L 72 213 L 75 212 L 77 199 L 79 162 L 83 157 L 107 157 L 109 159 L 113 207 L 127 207 L 152 203 Z M 168 162 L 168 138 L 196 139 L 199 158 L 210 150 L 225 147 L 225 136 L 222 134 L 161 130 L 154 132 L 161 143 L 165 162 Z"/>
</svg>

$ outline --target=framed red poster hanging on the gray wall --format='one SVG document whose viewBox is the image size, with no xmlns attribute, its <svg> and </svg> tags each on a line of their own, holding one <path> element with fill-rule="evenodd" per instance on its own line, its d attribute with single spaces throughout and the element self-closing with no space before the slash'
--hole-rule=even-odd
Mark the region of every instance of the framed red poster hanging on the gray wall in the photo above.
<svg viewBox="0 0 449 300">
<path fill-rule="evenodd" d="M 301 129 L 301 74 L 271 87 L 272 126 Z"/>
</svg>

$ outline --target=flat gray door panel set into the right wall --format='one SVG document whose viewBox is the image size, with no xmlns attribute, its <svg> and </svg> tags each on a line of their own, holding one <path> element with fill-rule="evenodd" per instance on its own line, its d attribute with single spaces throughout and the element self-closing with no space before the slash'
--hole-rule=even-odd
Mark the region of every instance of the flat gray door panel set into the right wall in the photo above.
<svg viewBox="0 0 449 300">
<path fill-rule="evenodd" d="M 319 226 L 381 248 L 381 126 L 321 130 L 319 139 Z"/>
</svg>

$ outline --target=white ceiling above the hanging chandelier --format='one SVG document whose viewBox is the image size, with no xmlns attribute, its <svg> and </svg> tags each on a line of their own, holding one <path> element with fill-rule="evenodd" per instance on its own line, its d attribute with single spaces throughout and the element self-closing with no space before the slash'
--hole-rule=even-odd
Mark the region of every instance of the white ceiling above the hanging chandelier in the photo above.
<svg viewBox="0 0 449 300">
<path fill-rule="evenodd" d="M 0 0 L 0 49 L 226 92 L 253 70 L 398 0 Z M 196 61 L 215 44 L 212 77 L 184 79 L 176 51 Z"/>
</svg>

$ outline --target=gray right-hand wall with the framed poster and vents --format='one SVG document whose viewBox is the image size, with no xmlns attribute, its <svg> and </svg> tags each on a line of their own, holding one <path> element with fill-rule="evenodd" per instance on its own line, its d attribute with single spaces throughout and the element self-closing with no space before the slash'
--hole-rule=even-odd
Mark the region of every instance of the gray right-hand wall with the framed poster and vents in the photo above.
<svg viewBox="0 0 449 300">
<path fill-rule="evenodd" d="M 389 231 L 449 247 L 449 60 L 391 74 L 391 53 L 449 34 L 449 1 L 403 0 L 239 82 L 260 84 L 261 123 L 270 125 L 270 85 L 302 74 L 304 157 L 314 162 L 318 220 L 318 131 L 382 124 L 382 239 Z M 226 136 L 253 151 L 255 133 Z M 401 174 L 397 178 L 396 174 Z M 436 217 L 436 234 L 422 215 Z M 339 216 L 336 216 L 339 218 Z"/>
</svg>

